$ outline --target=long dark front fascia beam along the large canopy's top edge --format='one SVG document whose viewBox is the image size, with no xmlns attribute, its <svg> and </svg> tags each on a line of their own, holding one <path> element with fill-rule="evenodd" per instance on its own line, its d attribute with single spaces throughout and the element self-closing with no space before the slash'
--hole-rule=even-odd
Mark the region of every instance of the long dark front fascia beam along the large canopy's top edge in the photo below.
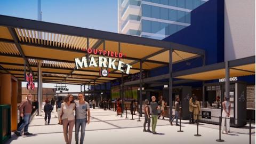
<svg viewBox="0 0 256 144">
<path fill-rule="evenodd" d="M 64 34 L 64 35 L 71 35 L 71 36 L 82 36 L 82 37 L 88 36 L 88 37 L 97 38 L 97 39 L 108 39 L 110 41 L 117 41 L 122 43 L 131 43 L 131 44 L 138 44 L 138 45 L 147 45 L 147 46 L 155 46 L 155 47 L 172 47 L 174 50 L 191 52 L 199 55 L 202 55 L 204 52 L 204 50 L 197 49 L 195 47 L 181 45 L 181 44 L 167 42 L 167 41 L 161 41 L 157 39 L 145 38 L 145 37 L 116 34 L 116 33 L 111 33 L 107 31 L 60 25 L 57 23 L 15 18 L 15 17 L 6 16 L 6 15 L 0 15 L 0 19 L 1 19 L 0 25 L 7 26 L 7 27 L 32 29 L 32 30 L 45 31 L 50 33 L 57 33 L 57 34 Z"/>
</svg>

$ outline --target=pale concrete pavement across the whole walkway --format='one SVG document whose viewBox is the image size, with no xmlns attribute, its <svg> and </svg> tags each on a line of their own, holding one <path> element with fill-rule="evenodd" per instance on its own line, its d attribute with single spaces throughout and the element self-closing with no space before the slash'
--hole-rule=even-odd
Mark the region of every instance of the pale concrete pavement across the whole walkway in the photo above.
<svg viewBox="0 0 256 144">
<path fill-rule="evenodd" d="M 43 113 L 44 114 L 44 113 Z M 217 142 L 219 138 L 219 126 L 201 123 L 199 125 L 199 134 L 201 137 L 195 137 L 196 124 L 188 124 L 188 121 L 182 121 L 181 129 L 184 132 L 177 132 L 179 126 L 171 126 L 169 119 L 159 119 L 154 135 L 143 130 L 143 118 L 137 122 L 138 114 L 131 120 L 116 116 L 115 111 L 91 109 L 91 123 L 86 125 L 84 143 L 249 143 L 249 129 L 231 127 L 230 134 L 222 134 L 225 142 Z M 65 143 L 63 137 L 62 125 L 58 125 L 57 112 L 53 111 L 51 125 L 44 125 L 44 116 L 35 116 L 29 125 L 28 131 L 33 135 L 17 137 L 15 134 L 6 143 Z M 151 127 L 150 127 L 151 130 Z M 252 129 L 252 143 L 255 143 L 255 125 Z M 75 127 L 73 130 L 72 143 L 75 143 Z"/>
</svg>

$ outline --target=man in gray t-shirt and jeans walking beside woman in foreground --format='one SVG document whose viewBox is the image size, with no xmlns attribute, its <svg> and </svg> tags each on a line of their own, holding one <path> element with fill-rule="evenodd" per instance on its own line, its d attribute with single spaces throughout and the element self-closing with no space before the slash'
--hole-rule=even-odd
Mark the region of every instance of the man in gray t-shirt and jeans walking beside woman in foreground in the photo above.
<svg viewBox="0 0 256 144">
<path fill-rule="evenodd" d="M 79 101 L 76 102 L 76 125 L 75 125 L 75 139 L 78 144 L 78 132 L 81 126 L 80 143 L 84 142 L 85 126 L 90 123 L 90 106 L 89 103 L 84 101 L 84 94 L 78 94 Z"/>
</svg>

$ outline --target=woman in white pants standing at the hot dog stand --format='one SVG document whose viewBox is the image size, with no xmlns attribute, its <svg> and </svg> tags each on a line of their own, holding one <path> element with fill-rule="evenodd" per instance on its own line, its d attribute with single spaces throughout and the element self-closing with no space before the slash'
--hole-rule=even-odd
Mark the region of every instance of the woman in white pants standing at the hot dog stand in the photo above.
<svg viewBox="0 0 256 144">
<path fill-rule="evenodd" d="M 224 101 L 222 102 L 222 133 L 224 133 L 225 128 L 225 119 L 226 119 L 226 133 L 228 134 L 228 131 L 230 130 L 230 101 L 229 98 L 224 97 Z"/>
</svg>

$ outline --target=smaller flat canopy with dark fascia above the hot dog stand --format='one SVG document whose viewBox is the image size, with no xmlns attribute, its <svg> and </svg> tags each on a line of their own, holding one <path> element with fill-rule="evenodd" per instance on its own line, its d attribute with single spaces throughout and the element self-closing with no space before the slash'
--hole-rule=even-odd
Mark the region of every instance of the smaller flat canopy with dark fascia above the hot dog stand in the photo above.
<svg viewBox="0 0 256 144">
<path fill-rule="evenodd" d="M 227 68 L 229 69 L 230 77 L 255 75 L 255 55 L 252 57 L 228 61 L 228 67 L 226 66 L 226 62 L 220 62 L 213 65 L 206 65 L 187 70 L 175 71 L 174 73 L 172 73 L 172 77 L 182 80 L 174 81 L 173 84 L 191 83 L 225 78 Z M 141 81 L 142 83 L 155 84 L 157 81 L 168 78 L 170 78 L 170 74 L 143 78 L 141 79 Z M 126 82 L 124 83 L 124 85 L 139 85 L 139 83 L 140 81 L 137 80 L 132 82 Z M 162 82 L 162 84 L 160 85 L 164 84 L 166 83 Z"/>
</svg>

